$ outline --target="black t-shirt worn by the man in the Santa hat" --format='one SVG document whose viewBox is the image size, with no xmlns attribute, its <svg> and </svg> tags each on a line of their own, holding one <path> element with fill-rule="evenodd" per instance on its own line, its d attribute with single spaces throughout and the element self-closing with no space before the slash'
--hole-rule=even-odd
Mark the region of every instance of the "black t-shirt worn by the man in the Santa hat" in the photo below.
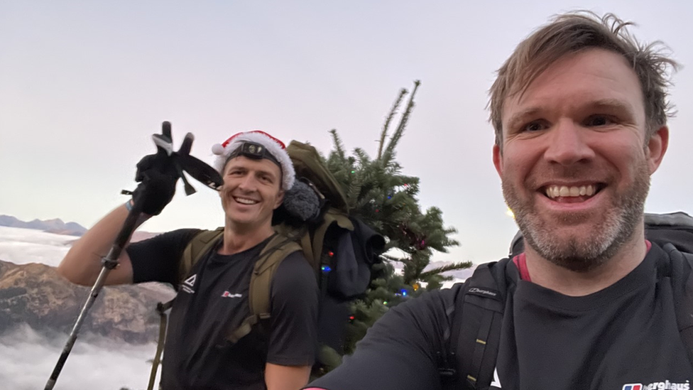
<svg viewBox="0 0 693 390">
<path fill-rule="evenodd" d="M 136 283 L 177 283 L 178 261 L 195 229 L 180 229 L 131 244 Z M 279 265 L 271 286 L 271 319 L 231 345 L 225 341 L 250 315 L 253 265 L 268 242 L 224 256 L 214 249 L 180 283 L 170 313 L 163 359 L 163 389 L 265 389 L 266 362 L 311 365 L 315 359 L 318 290 L 300 252 Z"/>
</svg>

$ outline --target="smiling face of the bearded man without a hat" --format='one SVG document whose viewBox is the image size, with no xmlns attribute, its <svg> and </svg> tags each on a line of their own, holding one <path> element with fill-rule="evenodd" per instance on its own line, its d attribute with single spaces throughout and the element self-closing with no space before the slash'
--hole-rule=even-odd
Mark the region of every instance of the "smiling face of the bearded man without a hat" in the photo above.
<svg viewBox="0 0 693 390">
<path fill-rule="evenodd" d="M 493 163 L 528 254 L 588 271 L 642 239 L 668 129 L 645 140 L 640 82 L 621 55 L 594 48 L 561 58 L 506 99 L 502 126 Z"/>
</svg>

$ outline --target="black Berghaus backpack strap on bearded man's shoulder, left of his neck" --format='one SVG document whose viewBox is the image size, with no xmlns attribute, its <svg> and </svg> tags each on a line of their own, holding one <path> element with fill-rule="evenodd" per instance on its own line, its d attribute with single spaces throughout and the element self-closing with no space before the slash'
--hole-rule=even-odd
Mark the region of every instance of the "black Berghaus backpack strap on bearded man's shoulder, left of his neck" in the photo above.
<svg viewBox="0 0 693 390">
<path fill-rule="evenodd" d="M 456 389 L 485 389 L 493 380 L 506 303 L 508 262 L 509 259 L 503 259 L 478 266 L 455 299 L 449 347 Z"/>
</svg>

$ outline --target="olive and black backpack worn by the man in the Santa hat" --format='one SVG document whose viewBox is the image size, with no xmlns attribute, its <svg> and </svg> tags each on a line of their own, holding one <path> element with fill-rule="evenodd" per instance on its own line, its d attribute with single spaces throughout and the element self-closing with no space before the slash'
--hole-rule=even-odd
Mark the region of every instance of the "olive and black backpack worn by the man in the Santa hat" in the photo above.
<svg viewBox="0 0 693 390">
<path fill-rule="evenodd" d="M 308 188 L 317 198 L 315 215 L 305 219 L 292 215 L 285 204 L 273 215 L 275 236 L 261 251 L 253 266 L 248 293 L 251 315 L 236 329 L 227 330 L 226 339 L 235 343 L 248 335 L 253 327 L 263 326 L 271 318 L 270 291 L 272 278 L 281 261 L 295 251 L 302 251 L 305 259 L 315 271 L 320 288 L 317 336 L 321 353 L 317 356 L 314 370 L 324 372 L 331 367 L 332 349 L 344 354 L 346 324 L 351 315 L 349 303 L 366 293 L 372 278 L 377 277 L 373 265 L 382 260 L 385 239 L 356 217 L 349 215 L 346 195 L 337 180 L 322 162 L 322 157 L 310 145 L 291 141 L 287 146 L 296 171 L 297 184 Z M 293 190 L 293 189 L 292 189 Z M 285 195 L 289 196 L 288 193 Z M 200 261 L 222 239 L 224 228 L 203 230 L 187 244 L 180 259 L 179 280 L 183 281 L 193 266 Z M 159 303 L 160 332 L 157 351 L 153 360 L 150 387 L 153 389 L 156 370 L 160 362 L 167 323 L 166 311 L 174 300 Z M 326 353 L 325 347 L 329 347 Z"/>
</svg>

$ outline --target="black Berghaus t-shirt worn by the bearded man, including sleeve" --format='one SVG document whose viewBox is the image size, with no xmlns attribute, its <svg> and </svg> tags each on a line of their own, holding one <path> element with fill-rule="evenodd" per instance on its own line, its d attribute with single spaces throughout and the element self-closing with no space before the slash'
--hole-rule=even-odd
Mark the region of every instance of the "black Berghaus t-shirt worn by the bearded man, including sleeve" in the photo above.
<svg viewBox="0 0 693 390">
<path fill-rule="evenodd" d="M 668 261 L 653 244 L 627 276 L 582 297 L 518 281 L 517 269 L 508 267 L 491 389 L 688 390 L 693 368 L 677 328 L 671 283 L 657 280 L 656 267 Z M 354 356 L 308 387 L 440 389 L 436 352 L 444 351 L 444 310 L 457 291 L 427 293 L 393 308 Z"/>
</svg>

